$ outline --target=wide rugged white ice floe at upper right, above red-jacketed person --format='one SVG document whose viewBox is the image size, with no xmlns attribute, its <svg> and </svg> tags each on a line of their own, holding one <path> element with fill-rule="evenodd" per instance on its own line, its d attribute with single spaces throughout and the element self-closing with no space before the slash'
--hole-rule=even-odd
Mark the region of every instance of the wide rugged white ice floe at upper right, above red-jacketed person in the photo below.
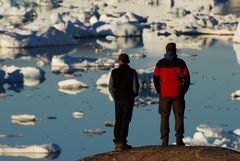
<svg viewBox="0 0 240 161">
<path fill-rule="evenodd" d="M 238 18 L 235 15 L 190 14 L 180 21 L 172 21 L 169 26 L 176 28 L 177 34 L 187 35 L 234 35 Z"/>
</svg>

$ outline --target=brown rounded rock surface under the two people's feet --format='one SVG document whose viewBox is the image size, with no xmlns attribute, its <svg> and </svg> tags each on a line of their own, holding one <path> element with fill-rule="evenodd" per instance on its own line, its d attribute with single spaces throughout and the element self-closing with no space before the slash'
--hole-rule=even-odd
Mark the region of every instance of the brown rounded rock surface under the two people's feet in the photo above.
<svg viewBox="0 0 240 161">
<path fill-rule="evenodd" d="M 240 161 L 240 152 L 209 146 L 143 146 L 97 154 L 78 161 Z"/>
</svg>

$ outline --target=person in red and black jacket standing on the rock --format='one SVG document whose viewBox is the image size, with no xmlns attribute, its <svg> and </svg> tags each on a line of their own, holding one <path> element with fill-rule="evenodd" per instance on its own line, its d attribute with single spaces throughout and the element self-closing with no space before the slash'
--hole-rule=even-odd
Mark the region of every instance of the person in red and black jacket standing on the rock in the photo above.
<svg viewBox="0 0 240 161">
<path fill-rule="evenodd" d="M 159 113 L 161 115 L 160 133 L 162 145 L 169 141 L 169 116 L 173 108 L 175 117 L 176 144 L 185 145 L 184 134 L 184 95 L 190 85 L 190 74 L 186 63 L 177 57 L 175 43 L 168 43 L 164 58 L 155 66 L 153 82 L 159 94 Z"/>
</svg>

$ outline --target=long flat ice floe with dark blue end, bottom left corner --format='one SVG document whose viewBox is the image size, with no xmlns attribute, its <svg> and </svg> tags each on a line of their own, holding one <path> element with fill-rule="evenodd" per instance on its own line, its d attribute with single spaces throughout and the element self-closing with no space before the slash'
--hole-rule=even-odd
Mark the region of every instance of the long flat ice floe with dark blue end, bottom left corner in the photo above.
<svg viewBox="0 0 240 161">
<path fill-rule="evenodd" d="M 56 158 L 61 153 L 57 144 L 44 145 L 0 145 L 0 156 L 27 157 L 32 159 Z"/>
</svg>

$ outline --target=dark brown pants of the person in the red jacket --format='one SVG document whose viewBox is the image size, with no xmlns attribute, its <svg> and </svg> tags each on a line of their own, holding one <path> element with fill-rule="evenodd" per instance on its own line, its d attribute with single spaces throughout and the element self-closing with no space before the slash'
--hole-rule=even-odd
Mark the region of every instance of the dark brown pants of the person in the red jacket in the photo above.
<svg viewBox="0 0 240 161">
<path fill-rule="evenodd" d="M 169 116 L 171 109 L 175 117 L 175 131 L 176 138 L 183 138 L 184 134 L 184 110 L 185 100 L 182 97 L 159 97 L 159 113 L 161 115 L 161 139 L 168 138 L 169 136 Z"/>
</svg>

